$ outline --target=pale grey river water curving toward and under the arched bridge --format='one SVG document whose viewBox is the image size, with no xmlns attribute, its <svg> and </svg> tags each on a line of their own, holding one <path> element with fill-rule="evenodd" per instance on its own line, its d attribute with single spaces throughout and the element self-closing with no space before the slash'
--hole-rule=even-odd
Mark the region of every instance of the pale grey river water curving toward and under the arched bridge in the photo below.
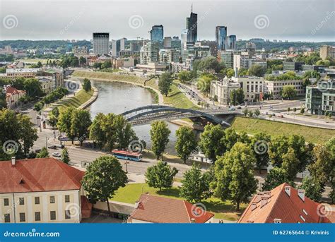
<svg viewBox="0 0 335 242">
<path fill-rule="evenodd" d="M 124 111 L 134 109 L 136 107 L 142 107 L 153 104 L 153 95 L 144 89 L 136 85 L 129 83 L 117 83 L 92 80 L 93 85 L 98 88 L 99 96 L 98 99 L 93 102 L 90 106 L 90 114 L 94 118 L 98 113 L 108 114 L 122 114 Z M 175 131 L 179 126 L 167 122 L 170 128 L 170 141 L 167 144 L 165 152 L 175 154 Z M 151 147 L 150 140 L 150 128 L 149 124 L 143 126 L 134 126 L 139 140 L 145 140 L 147 147 Z"/>
</svg>

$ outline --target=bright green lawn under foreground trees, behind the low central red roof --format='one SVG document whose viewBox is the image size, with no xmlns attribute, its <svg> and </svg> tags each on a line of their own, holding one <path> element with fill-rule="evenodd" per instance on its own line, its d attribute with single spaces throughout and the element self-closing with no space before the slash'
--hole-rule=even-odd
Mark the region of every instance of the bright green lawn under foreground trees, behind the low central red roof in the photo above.
<svg viewBox="0 0 335 242">
<path fill-rule="evenodd" d="M 131 183 L 127 184 L 123 188 L 119 188 L 114 197 L 110 198 L 110 200 L 134 204 L 137 200 L 139 200 L 141 194 L 143 193 L 159 195 L 165 198 L 183 199 L 180 197 L 179 188 L 177 187 L 164 188 L 160 191 L 158 188 L 149 187 L 146 183 Z M 213 212 L 215 214 L 215 218 L 227 219 L 231 221 L 237 220 L 242 214 L 242 210 L 247 207 L 246 204 L 242 204 L 241 211 L 236 212 L 230 201 L 222 202 L 218 198 L 208 198 L 202 201 L 202 203 L 205 205 L 208 212 Z"/>
</svg>

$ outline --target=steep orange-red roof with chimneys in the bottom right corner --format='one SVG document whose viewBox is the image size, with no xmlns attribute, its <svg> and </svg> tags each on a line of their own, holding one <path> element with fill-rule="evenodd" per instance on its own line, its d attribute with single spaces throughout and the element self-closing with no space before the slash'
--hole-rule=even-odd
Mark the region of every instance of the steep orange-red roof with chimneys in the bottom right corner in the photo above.
<svg viewBox="0 0 335 242">
<path fill-rule="evenodd" d="M 290 195 L 286 193 L 285 187 L 290 187 Z M 271 190 L 264 206 L 261 206 L 261 198 L 266 198 L 266 195 L 260 193 L 252 198 L 238 223 L 274 223 L 274 219 L 281 219 L 282 223 L 329 222 L 326 217 L 319 216 L 318 202 L 306 196 L 305 200 L 302 200 L 298 195 L 298 190 L 287 183 Z M 253 203 L 254 209 L 252 210 Z"/>
</svg>

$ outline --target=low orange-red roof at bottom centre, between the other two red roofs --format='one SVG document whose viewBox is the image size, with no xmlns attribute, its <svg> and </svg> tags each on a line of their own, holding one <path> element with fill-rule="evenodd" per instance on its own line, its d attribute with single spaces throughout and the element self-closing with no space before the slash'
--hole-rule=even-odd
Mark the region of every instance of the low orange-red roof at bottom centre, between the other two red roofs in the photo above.
<svg viewBox="0 0 335 242">
<path fill-rule="evenodd" d="M 213 213 L 184 200 L 143 194 L 130 219 L 153 223 L 191 223 L 194 219 L 195 223 L 204 223 L 213 216 Z"/>
</svg>

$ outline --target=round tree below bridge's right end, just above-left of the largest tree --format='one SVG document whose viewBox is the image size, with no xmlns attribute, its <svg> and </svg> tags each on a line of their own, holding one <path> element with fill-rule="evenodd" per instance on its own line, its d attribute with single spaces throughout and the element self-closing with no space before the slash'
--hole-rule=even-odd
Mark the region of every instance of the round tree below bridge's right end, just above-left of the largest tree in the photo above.
<svg viewBox="0 0 335 242">
<path fill-rule="evenodd" d="M 216 157 L 225 153 L 225 130 L 221 125 L 208 124 L 201 133 L 199 147 L 204 155 L 216 162 Z"/>
</svg>

